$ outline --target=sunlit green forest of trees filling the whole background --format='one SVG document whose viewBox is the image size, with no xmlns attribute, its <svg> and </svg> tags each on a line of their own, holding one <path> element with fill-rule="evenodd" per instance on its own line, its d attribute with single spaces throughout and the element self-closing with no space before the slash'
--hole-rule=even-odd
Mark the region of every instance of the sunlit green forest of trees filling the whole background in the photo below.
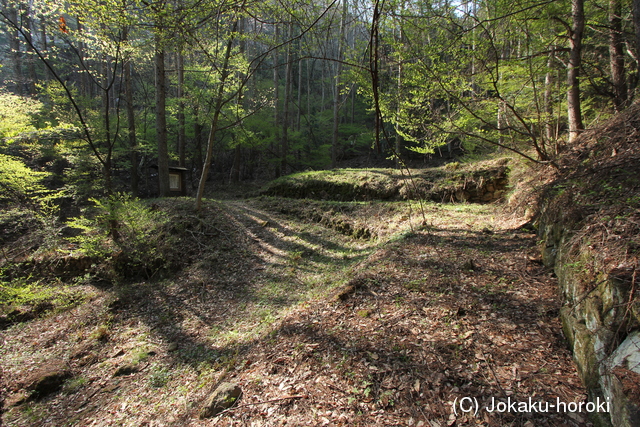
<svg viewBox="0 0 640 427">
<path fill-rule="evenodd" d="M 637 6 L 3 0 L 0 152 L 86 196 L 167 195 L 180 166 L 199 199 L 367 151 L 553 164 L 633 100 Z"/>
</svg>

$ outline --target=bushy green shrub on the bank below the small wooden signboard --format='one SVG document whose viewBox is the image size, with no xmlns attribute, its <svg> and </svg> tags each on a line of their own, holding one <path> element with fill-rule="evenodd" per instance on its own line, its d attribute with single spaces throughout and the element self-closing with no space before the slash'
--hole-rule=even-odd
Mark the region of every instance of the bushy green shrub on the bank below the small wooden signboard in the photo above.
<svg viewBox="0 0 640 427">
<path fill-rule="evenodd" d="M 91 201 L 94 206 L 88 212 L 68 222 L 83 230 L 71 238 L 82 252 L 125 278 L 150 278 L 168 267 L 166 213 L 127 194 Z"/>
</svg>

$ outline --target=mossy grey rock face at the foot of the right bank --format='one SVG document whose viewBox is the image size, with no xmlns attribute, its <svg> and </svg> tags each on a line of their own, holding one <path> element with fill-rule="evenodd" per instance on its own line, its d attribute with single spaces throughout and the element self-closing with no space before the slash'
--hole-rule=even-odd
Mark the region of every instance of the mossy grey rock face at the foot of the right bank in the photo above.
<svg viewBox="0 0 640 427">
<path fill-rule="evenodd" d="M 568 223 L 568 224 L 567 224 Z M 589 399 L 606 399 L 609 413 L 590 414 L 599 425 L 640 425 L 640 310 L 633 270 L 599 265 L 588 246 L 572 242 L 571 221 L 543 211 L 543 260 L 558 276 L 564 334 Z M 635 285 L 634 285 L 635 284 Z"/>
</svg>

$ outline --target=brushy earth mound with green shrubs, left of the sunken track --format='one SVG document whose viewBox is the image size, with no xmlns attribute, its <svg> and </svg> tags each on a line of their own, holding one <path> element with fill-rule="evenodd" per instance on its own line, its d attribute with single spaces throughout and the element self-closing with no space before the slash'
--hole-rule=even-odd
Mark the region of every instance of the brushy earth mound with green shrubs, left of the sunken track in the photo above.
<svg viewBox="0 0 640 427">
<path fill-rule="evenodd" d="M 177 198 L 126 199 L 110 209 L 98 202 L 75 228 L 17 211 L 0 217 L 13 220 L 0 240 L 0 329 L 73 309 L 95 285 L 157 282 L 195 265 L 205 276 L 230 276 L 252 262 L 250 239 L 216 202 L 199 213 L 193 200 Z"/>
</svg>

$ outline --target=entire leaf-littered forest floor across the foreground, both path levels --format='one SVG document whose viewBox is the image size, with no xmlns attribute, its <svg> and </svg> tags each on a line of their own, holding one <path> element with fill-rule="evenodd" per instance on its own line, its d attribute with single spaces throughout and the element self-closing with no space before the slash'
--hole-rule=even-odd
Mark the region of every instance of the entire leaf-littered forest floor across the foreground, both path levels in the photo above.
<svg viewBox="0 0 640 427">
<path fill-rule="evenodd" d="M 6 425 L 589 425 L 453 411 L 585 399 L 536 236 L 499 205 L 262 197 L 198 224 L 176 275 L 69 285 L 75 303 L 3 331 Z M 54 367 L 62 389 L 29 398 Z M 221 381 L 240 400 L 199 419 Z"/>
</svg>

